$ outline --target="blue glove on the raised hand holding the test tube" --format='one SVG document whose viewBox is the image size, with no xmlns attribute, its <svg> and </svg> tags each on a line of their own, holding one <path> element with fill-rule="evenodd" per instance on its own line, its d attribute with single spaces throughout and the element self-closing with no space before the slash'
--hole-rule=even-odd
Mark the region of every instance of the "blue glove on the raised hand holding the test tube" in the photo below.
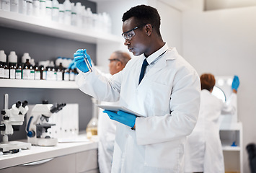
<svg viewBox="0 0 256 173">
<path fill-rule="evenodd" d="M 74 53 L 74 64 L 76 68 L 79 68 L 80 71 L 86 73 L 89 71 L 87 67 L 87 63 L 84 61 L 84 54 L 87 56 L 87 59 L 89 61 L 89 64 L 92 66 L 92 61 L 90 56 L 87 54 L 87 50 L 76 50 L 76 53 Z"/>
</svg>

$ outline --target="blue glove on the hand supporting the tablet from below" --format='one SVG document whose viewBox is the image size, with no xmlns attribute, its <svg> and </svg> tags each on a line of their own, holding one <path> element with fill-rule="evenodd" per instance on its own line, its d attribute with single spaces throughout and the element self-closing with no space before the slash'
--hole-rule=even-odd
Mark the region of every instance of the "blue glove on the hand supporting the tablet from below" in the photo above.
<svg viewBox="0 0 256 173">
<path fill-rule="evenodd" d="M 116 120 L 119 123 L 130 126 L 131 128 L 135 125 L 136 115 L 123 111 L 112 112 L 110 110 L 104 110 L 103 112 L 106 113 L 111 120 Z"/>
</svg>

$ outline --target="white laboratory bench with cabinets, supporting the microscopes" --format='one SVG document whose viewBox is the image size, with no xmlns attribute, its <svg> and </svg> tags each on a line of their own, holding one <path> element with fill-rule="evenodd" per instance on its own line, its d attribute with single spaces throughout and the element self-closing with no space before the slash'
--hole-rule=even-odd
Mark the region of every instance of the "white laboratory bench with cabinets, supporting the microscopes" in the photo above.
<svg viewBox="0 0 256 173">
<path fill-rule="evenodd" d="M 85 134 L 79 138 L 81 140 L 64 141 L 56 146 L 32 146 L 17 154 L 1 155 L 0 172 L 99 173 L 97 138 L 84 140 Z"/>
</svg>

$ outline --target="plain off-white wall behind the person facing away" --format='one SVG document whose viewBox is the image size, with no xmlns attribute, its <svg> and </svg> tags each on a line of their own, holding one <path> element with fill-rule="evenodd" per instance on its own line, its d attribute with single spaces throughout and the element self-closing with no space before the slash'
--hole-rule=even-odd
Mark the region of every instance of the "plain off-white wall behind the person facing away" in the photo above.
<svg viewBox="0 0 256 173">
<path fill-rule="evenodd" d="M 250 172 L 245 147 L 256 143 L 256 6 L 183 13 L 182 53 L 198 74 L 237 74 L 238 119 L 243 123 L 244 172 Z"/>
</svg>

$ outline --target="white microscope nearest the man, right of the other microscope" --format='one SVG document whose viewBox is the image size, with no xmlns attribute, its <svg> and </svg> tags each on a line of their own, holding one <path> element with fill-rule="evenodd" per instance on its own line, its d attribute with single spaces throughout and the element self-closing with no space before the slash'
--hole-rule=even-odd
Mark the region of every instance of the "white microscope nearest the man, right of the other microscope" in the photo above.
<svg viewBox="0 0 256 173">
<path fill-rule="evenodd" d="M 27 118 L 27 141 L 35 146 L 56 146 L 58 139 L 54 138 L 54 132 L 50 130 L 56 124 L 49 123 L 49 118 L 65 106 L 66 103 L 36 104 Z"/>
</svg>

